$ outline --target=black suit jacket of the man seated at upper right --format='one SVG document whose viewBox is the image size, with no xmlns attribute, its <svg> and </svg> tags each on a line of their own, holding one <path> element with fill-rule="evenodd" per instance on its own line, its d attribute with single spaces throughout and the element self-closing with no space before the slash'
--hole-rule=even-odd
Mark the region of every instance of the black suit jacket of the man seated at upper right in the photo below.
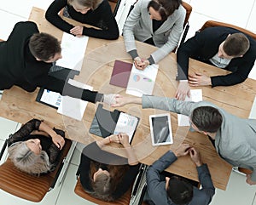
<svg viewBox="0 0 256 205">
<path fill-rule="evenodd" d="M 241 32 L 224 26 L 209 27 L 191 37 L 177 49 L 177 79 L 188 78 L 189 58 L 208 62 L 218 53 L 218 47 L 229 34 Z M 245 34 L 246 35 L 246 34 Z M 246 35 L 247 36 L 247 35 Z M 232 71 L 226 76 L 211 77 L 212 87 L 229 86 L 244 82 L 253 68 L 256 59 L 256 41 L 247 36 L 250 48 L 242 57 L 234 58 L 225 70 Z"/>
</svg>

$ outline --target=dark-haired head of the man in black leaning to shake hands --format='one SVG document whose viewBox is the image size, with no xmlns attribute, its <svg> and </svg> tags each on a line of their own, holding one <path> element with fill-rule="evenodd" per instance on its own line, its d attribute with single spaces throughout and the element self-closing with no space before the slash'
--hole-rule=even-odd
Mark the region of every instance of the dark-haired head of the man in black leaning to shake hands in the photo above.
<svg viewBox="0 0 256 205">
<path fill-rule="evenodd" d="M 29 49 L 37 60 L 52 63 L 62 58 L 61 43 L 47 33 L 35 33 L 29 40 Z"/>
</svg>

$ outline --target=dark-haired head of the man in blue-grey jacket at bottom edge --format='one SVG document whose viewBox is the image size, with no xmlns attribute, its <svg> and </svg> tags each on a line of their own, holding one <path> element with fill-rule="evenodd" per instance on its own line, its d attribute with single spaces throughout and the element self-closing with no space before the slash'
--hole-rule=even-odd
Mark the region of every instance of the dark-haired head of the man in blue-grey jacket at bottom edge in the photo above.
<svg viewBox="0 0 256 205">
<path fill-rule="evenodd" d="M 172 176 L 166 180 L 166 192 L 177 205 L 188 204 L 193 198 L 193 185 L 185 179 Z"/>
</svg>

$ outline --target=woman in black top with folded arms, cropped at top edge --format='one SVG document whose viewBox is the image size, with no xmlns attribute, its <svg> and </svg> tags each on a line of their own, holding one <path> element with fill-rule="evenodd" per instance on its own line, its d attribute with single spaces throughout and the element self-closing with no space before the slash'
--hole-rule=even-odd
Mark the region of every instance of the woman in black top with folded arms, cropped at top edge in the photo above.
<svg viewBox="0 0 256 205">
<path fill-rule="evenodd" d="M 64 9 L 65 16 L 100 29 L 69 24 L 59 16 L 61 9 Z M 85 35 L 108 40 L 119 37 L 119 28 L 108 0 L 55 0 L 49 5 L 45 18 L 62 31 L 77 37 Z"/>
</svg>

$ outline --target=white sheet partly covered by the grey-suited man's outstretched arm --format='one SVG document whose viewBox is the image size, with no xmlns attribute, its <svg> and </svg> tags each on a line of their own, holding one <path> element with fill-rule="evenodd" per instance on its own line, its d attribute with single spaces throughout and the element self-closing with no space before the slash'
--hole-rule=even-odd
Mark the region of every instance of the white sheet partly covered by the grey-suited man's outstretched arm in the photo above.
<svg viewBox="0 0 256 205">
<path fill-rule="evenodd" d="M 202 90 L 201 89 L 191 89 L 190 98 L 187 96 L 185 101 L 199 102 L 202 100 Z M 190 126 L 189 117 L 182 114 L 177 115 L 177 125 L 178 126 Z"/>
</svg>

